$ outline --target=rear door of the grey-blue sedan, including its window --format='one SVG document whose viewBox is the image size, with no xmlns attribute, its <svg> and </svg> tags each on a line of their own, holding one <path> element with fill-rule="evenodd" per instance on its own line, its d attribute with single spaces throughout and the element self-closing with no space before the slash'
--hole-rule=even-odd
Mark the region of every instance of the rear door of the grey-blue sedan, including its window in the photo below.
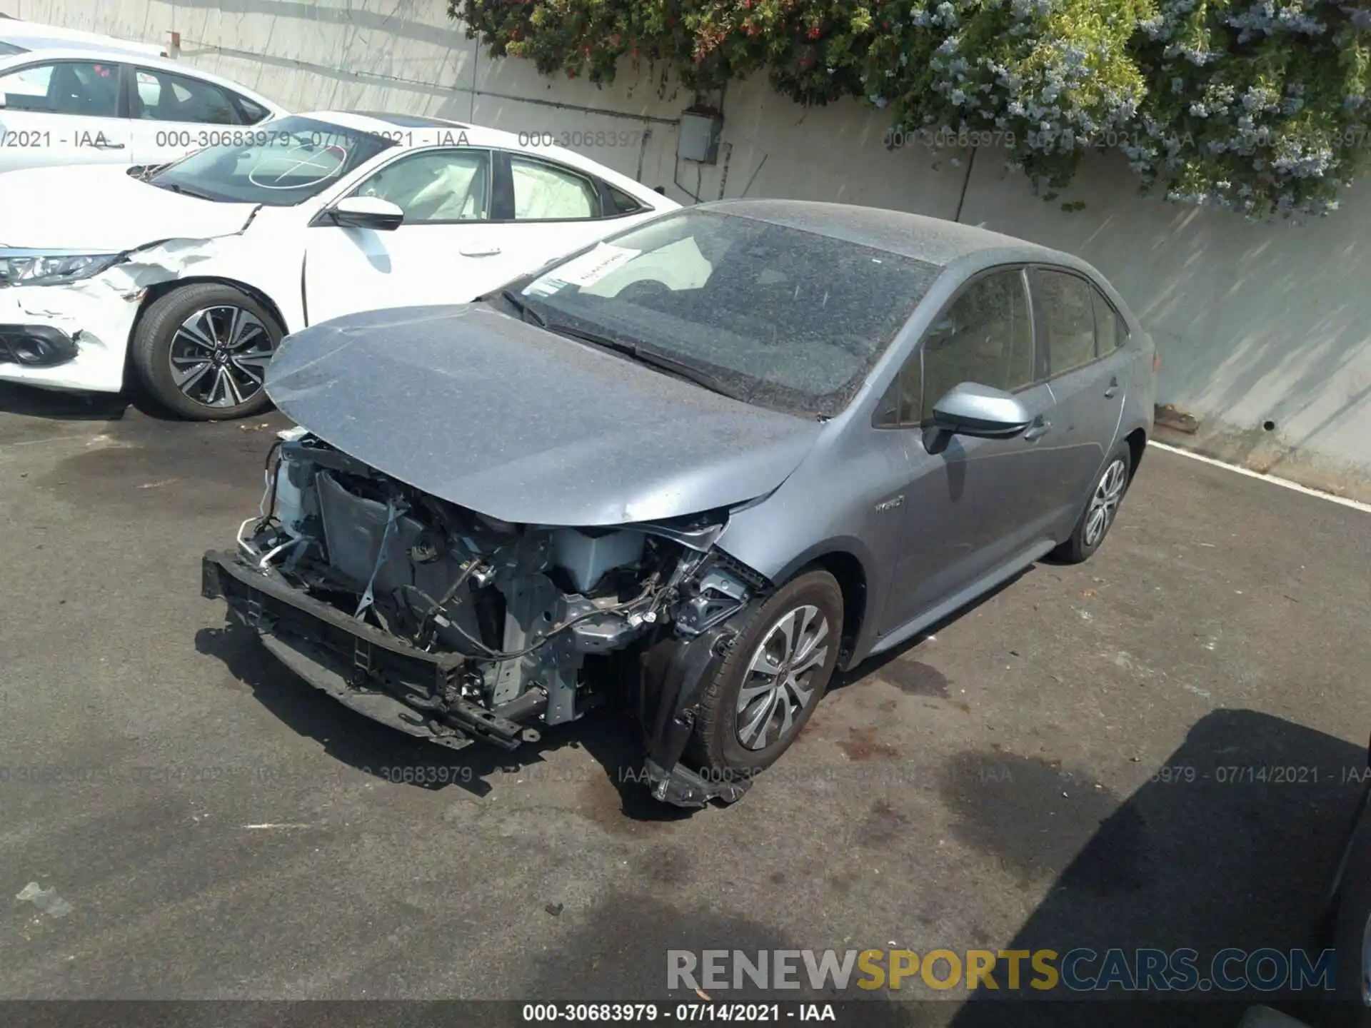
<svg viewBox="0 0 1371 1028">
<path fill-rule="evenodd" d="M 1031 269 L 1034 321 L 1042 374 L 1052 389 L 1052 447 L 1042 488 L 1061 519 L 1075 521 L 1086 491 L 1113 447 L 1123 415 L 1127 328 L 1109 302 L 1078 271 Z"/>
</svg>

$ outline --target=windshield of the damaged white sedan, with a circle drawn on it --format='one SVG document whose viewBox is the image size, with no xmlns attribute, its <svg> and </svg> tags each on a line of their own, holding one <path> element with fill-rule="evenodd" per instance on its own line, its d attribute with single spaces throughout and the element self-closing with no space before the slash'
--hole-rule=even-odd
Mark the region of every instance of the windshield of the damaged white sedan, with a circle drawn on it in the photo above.
<svg viewBox="0 0 1371 1028">
<path fill-rule="evenodd" d="M 393 145 L 383 136 L 298 115 L 223 134 L 241 143 L 197 149 L 148 181 L 206 200 L 293 207 Z"/>
</svg>

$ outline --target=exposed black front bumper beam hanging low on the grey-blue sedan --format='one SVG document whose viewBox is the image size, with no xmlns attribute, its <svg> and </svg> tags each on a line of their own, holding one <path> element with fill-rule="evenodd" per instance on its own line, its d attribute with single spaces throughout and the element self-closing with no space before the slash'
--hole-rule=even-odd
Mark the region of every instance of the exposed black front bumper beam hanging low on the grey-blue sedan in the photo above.
<svg viewBox="0 0 1371 1028">
<path fill-rule="evenodd" d="M 233 552 L 204 555 L 200 593 L 225 600 L 230 617 L 310 685 L 389 728 L 452 750 L 477 740 L 514 750 L 539 737 L 461 698 L 461 655 L 411 647 L 293 588 L 276 572 L 248 567 Z"/>
</svg>

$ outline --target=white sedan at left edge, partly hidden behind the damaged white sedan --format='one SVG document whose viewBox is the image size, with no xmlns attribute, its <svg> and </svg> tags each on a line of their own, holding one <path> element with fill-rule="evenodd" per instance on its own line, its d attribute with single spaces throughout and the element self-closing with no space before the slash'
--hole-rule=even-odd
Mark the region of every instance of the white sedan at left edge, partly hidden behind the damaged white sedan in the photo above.
<svg viewBox="0 0 1371 1028">
<path fill-rule="evenodd" d="M 167 162 L 287 114 L 166 58 L 27 41 L 33 49 L 0 56 L 0 171 Z"/>
</svg>

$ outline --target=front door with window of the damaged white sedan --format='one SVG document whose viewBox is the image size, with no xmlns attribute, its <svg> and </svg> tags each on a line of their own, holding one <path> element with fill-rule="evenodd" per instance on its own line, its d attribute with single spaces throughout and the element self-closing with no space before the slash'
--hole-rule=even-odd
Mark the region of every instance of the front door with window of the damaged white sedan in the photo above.
<svg viewBox="0 0 1371 1028">
<path fill-rule="evenodd" d="M 315 225 L 308 230 L 304 299 L 310 323 L 356 311 L 466 303 L 515 278 L 517 254 L 489 221 L 491 154 L 452 148 L 407 154 L 354 195 L 398 204 L 393 232 Z"/>
</svg>

